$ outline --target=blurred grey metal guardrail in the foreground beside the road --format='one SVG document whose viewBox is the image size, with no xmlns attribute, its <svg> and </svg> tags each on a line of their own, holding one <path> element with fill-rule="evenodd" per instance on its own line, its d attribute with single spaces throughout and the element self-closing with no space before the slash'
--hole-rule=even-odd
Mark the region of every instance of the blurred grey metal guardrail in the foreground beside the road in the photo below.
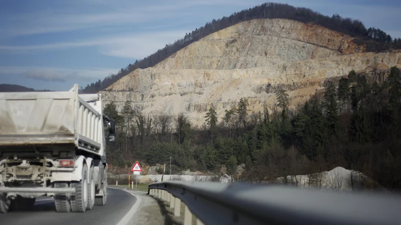
<svg viewBox="0 0 401 225">
<path fill-rule="evenodd" d="M 165 181 L 148 194 L 192 224 L 401 224 L 401 195 L 335 192 L 286 185 Z"/>
</svg>

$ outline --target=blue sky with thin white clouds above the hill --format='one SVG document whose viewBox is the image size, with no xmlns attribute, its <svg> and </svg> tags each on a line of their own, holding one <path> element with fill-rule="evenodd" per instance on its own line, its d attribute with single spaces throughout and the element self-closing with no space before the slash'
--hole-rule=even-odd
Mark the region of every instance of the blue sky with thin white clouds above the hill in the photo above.
<svg viewBox="0 0 401 225">
<path fill-rule="evenodd" d="M 0 0 L 0 83 L 68 90 L 264 0 Z M 278 0 L 401 37 L 399 0 Z"/>
</svg>

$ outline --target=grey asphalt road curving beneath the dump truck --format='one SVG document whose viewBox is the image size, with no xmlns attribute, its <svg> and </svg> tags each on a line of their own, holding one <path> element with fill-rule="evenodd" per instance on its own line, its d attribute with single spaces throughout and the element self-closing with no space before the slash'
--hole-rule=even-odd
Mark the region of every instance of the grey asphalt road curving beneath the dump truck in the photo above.
<svg viewBox="0 0 401 225">
<path fill-rule="evenodd" d="M 122 189 L 108 188 L 104 206 L 94 206 L 86 212 L 55 212 L 54 200 L 37 198 L 32 209 L 0 214 L 0 224 L 10 225 L 114 225 L 131 209 L 135 196 Z"/>
</svg>

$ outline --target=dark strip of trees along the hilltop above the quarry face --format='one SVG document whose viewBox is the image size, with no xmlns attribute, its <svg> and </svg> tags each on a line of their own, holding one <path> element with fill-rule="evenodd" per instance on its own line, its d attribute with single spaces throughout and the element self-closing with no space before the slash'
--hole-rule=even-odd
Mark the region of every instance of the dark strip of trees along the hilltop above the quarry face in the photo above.
<svg viewBox="0 0 401 225">
<path fill-rule="evenodd" d="M 220 19 L 213 19 L 200 28 L 186 33 L 185 36 L 176 40 L 173 44 L 166 46 L 154 52 L 147 57 L 136 60 L 133 64 L 121 68 L 117 74 L 112 74 L 105 77 L 103 80 L 98 80 L 88 84 L 81 91 L 85 93 L 96 93 L 113 84 L 119 78 L 127 75 L 137 68 L 152 67 L 155 64 L 163 61 L 168 56 L 189 45 L 192 42 L 199 40 L 211 33 L 222 30 L 239 22 L 256 19 L 256 18 L 284 18 L 292 19 L 300 22 L 313 22 L 315 24 L 327 27 L 331 30 L 339 31 L 350 36 L 356 37 L 355 42 L 358 44 L 366 44 L 367 51 L 384 51 L 390 49 L 401 49 L 401 38 L 392 38 L 386 32 L 379 28 L 366 28 L 360 20 L 343 18 L 338 14 L 331 17 L 322 15 L 309 8 L 294 7 L 289 4 L 282 3 L 264 3 L 253 8 L 245 9 L 240 12 L 235 12 L 230 16 L 224 16 Z"/>
</svg>

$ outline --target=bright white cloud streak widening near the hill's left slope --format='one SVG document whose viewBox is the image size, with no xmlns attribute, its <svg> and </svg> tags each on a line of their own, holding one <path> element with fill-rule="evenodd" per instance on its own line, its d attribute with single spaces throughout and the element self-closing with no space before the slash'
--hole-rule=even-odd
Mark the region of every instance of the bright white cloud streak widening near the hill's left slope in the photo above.
<svg viewBox="0 0 401 225">
<path fill-rule="evenodd" d="M 52 50 L 71 47 L 97 46 L 103 54 L 126 58 L 143 58 L 163 48 L 166 43 L 182 38 L 188 30 L 143 32 L 95 39 L 39 45 L 0 45 L 0 50 L 25 53 L 33 50 Z"/>
</svg>

